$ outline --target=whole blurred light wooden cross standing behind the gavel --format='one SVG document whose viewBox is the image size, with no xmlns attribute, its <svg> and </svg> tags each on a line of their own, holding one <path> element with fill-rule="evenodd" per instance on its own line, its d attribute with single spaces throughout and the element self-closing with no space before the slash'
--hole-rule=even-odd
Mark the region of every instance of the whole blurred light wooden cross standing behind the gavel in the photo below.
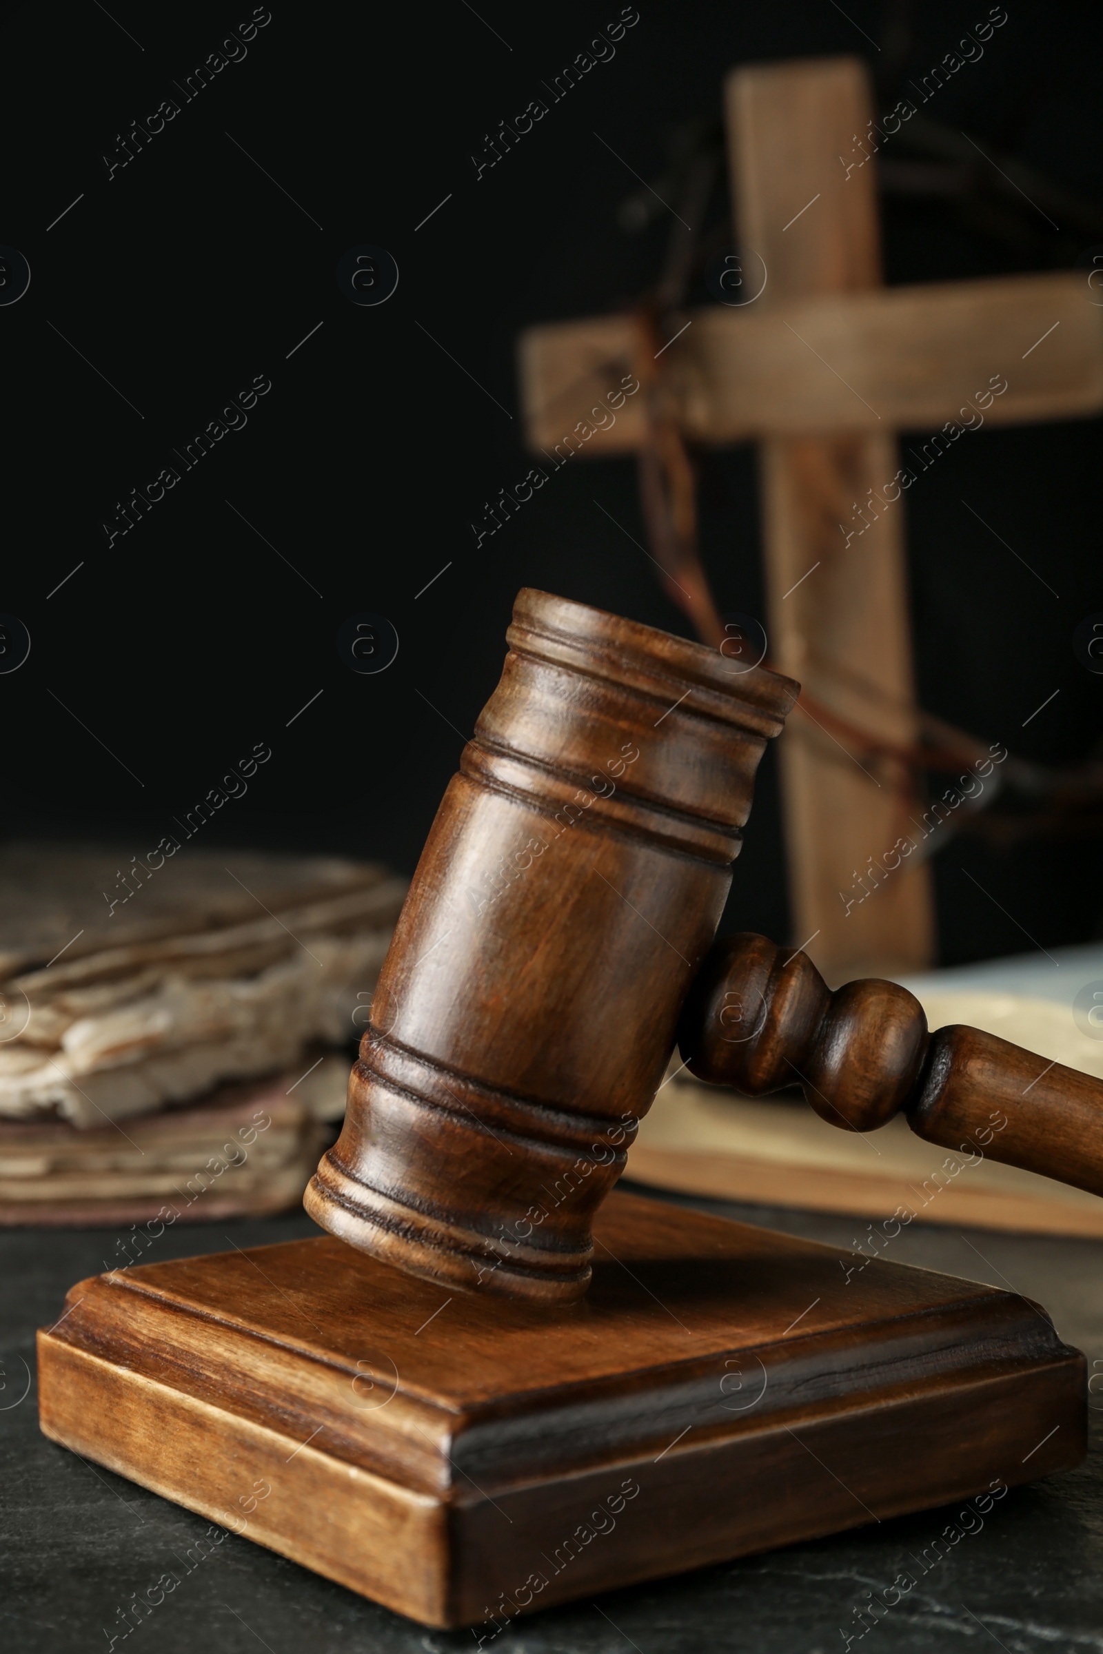
<svg viewBox="0 0 1103 1654">
<path fill-rule="evenodd" d="M 1103 407 L 1101 313 L 1078 276 L 1060 273 L 880 286 L 875 175 L 857 137 L 871 127 L 860 61 L 736 69 L 726 112 L 738 241 L 764 261 L 766 286 L 747 308 L 691 316 L 663 347 L 665 397 L 695 442 L 759 442 L 771 665 L 830 708 L 837 729 L 908 746 L 901 495 L 964 430 Z M 645 399 L 622 399 L 614 423 L 607 399 L 625 370 L 653 379 L 648 356 L 653 341 L 633 316 L 526 332 L 534 452 L 638 448 Z M 602 402 L 594 430 L 587 417 Z M 893 432 L 934 427 L 901 466 Z M 900 850 L 885 868 L 901 837 L 923 842 L 891 766 L 873 774 L 810 711 L 794 713 L 779 751 L 794 941 L 807 938 L 833 981 L 928 964 L 929 868 Z"/>
</svg>

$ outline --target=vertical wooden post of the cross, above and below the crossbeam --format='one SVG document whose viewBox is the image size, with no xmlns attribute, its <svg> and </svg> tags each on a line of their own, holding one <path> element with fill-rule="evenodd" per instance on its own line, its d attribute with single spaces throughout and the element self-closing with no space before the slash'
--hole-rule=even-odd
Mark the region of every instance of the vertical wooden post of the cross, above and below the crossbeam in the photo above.
<svg viewBox="0 0 1103 1654">
<path fill-rule="evenodd" d="M 876 288 L 873 167 L 847 177 L 838 165 L 873 112 L 863 65 L 828 58 L 736 69 L 726 101 L 738 238 L 769 270 L 762 313 L 785 299 Z M 810 344 L 805 354 L 822 379 L 835 379 L 830 354 L 817 356 Z M 784 672 L 799 663 L 804 688 L 835 715 L 908 744 L 914 696 L 903 511 L 881 511 L 847 539 L 847 528 L 865 521 L 852 521 L 853 506 L 896 475 L 886 422 L 873 435 L 771 437 L 759 465 L 771 658 Z M 860 670 L 873 696 L 857 700 L 835 667 Z M 794 719 L 779 758 L 794 939 L 807 938 L 835 981 L 921 969 L 934 944 L 926 865 L 910 865 L 850 915 L 838 900 L 853 868 L 900 837 L 906 777 L 890 766 L 873 774 L 867 754 L 848 753 L 809 715 Z"/>
</svg>

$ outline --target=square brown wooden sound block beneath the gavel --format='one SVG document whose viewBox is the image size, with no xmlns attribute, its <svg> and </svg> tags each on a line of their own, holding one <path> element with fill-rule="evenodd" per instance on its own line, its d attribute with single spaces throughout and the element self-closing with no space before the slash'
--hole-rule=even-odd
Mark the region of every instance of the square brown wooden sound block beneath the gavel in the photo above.
<svg viewBox="0 0 1103 1654">
<path fill-rule="evenodd" d="M 589 1295 L 551 1312 L 331 1237 L 66 1302 L 46 1436 L 483 1641 L 1085 1454 L 1083 1356 L 1025 1298 L 620 1193 Z"/>
</svg>

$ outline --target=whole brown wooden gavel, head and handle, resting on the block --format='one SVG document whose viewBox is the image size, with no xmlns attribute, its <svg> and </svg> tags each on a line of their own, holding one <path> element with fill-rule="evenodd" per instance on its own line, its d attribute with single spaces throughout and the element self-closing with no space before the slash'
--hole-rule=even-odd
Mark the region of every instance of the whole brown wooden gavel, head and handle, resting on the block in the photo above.
<svg viewBox="0 0 1103 1654">
<path fill-rule="evenodd" d="M 523 590 L 501 681 L 430 830 L 306 1191 L 415 1275 L 557 1303 L 675 1039 L 703 1080 L 799 1083 L 835 1125 L 1103 1194 L 1103 1085 L 893 982 L 830 992 L 762 936 L 714 943 L 766 741 L 799 686 Z"/>
</svg>

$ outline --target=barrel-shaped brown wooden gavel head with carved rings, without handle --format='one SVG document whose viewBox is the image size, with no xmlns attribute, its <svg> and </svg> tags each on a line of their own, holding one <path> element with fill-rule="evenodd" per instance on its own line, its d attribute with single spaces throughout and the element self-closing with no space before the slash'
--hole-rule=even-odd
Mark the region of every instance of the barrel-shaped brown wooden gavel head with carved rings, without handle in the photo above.
<svg viewBox="0 0 1103 1654">
<path fill-rule="evenodd" d="M 304 1204 L 415 1275 L 557 1303 L 589 1284 L 797 685 L 546 592 L 506 637 Z"/>
</svg>

